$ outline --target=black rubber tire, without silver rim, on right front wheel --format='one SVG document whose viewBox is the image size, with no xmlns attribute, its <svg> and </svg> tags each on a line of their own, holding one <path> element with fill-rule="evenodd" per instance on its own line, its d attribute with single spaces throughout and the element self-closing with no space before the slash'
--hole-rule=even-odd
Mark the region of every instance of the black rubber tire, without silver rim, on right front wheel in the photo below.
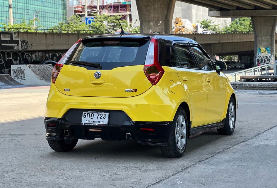
<svg viewBox="0 0 277 188">
<path fill-rule="evenodd" d="M 230 113 L 230 105 L 231 103 L 234 106 L 234 123 L 232 124 L 233 126 L 230 126 L 230 120 L 229 120 L 229 113 Z M 235 125 L 236 125 L 236 103 L 233 97 L 230 98 L 229 104 L 228 104 L 228 109 L 227 109 L 227 114 L 226 114 L 226 118 L 225 118 L 225 123 L 224 123 L 224 127 L 220 128 L 217 130 L 217 132 L 220 135 L 232 135 L 234 130 L 235 130 Z M 231 128 L 232 127 L 232 128 Z"/>
</svg>

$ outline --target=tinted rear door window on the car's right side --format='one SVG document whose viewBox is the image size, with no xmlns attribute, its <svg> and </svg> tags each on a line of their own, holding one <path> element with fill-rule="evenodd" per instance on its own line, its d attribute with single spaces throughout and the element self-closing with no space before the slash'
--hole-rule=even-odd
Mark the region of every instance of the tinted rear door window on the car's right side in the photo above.
<svg viewBox="0 0 277 188">
<path fill-rule="evenodd" d="M 198 68 L 194 63 L 187 46 L 175 46 L 172 48 L 171 63 L 172 66 Z"/>
</svg>

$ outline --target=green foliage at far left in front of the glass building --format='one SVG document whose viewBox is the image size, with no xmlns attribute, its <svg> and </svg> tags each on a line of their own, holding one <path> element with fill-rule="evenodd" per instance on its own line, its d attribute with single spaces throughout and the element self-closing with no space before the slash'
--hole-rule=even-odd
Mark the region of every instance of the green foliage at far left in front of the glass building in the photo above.
<svg viewBox="0 0 277 188">
<path fill-rule="evenodd" d="M 36 29 L 42 28 L 42 26 L 37 25 L 34 28 L 34 21 L 36 21 L 36 23 L 39 23 L 39 19 L 35 18 L 35 19 L 30 19 L 29 23 L 27 23 L 24 19 L 22 20 L 21 24 L 13 24 L 11 25 L 10 23 L 5 24 L 5 23 L 1 23 L 4 31 L 19 31 L 19 32 L 39 32 Z"/>
</svg>

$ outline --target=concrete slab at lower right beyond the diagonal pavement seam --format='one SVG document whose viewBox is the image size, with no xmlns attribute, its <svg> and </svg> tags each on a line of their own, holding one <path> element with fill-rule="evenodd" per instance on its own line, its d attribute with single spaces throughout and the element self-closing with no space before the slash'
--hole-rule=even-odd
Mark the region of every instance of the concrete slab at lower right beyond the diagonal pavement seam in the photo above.
<svg viewBox="0 0 277 188">
<path fill-rule="evenodd" d="M 149 187 L 276 187 L 276 135 L 275 126 Z"/>
</svg>

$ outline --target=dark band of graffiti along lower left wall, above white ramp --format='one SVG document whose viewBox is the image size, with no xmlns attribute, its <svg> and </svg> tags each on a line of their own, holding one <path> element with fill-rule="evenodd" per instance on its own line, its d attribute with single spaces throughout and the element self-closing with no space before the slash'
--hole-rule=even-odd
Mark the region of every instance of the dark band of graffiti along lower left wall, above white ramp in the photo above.
<svg viewBox="0 0 277 188">
<path fill-rule="evenodd" d="M 49 51 L 48 51 L 49 52 Z M 0 51 L 0 74 L 11 73 L 11 65 L 32 64 L 38 60 L 58 62 L 63 53 L 48 53 L 43 51 Z"/>
</svg>

